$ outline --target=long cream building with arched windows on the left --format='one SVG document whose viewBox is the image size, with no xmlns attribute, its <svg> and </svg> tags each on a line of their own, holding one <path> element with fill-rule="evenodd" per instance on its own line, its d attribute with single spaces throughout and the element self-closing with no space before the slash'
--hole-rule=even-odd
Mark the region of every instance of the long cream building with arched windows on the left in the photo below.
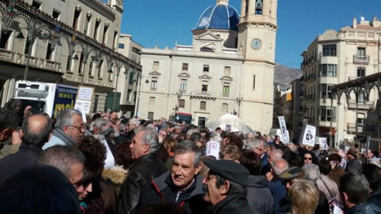
<svg viewBox="0 0 381 214">
<path fill-rule="evenodd" d="M 92 112 L 105 110 L 119 73 L 141 70 L 116 52 L 120 0 L 4 0 L 0 9 L 2 105 L 13 96 L 14 83 L 23 79 L 27 64 L 29 81 L 94 87 Z"/>
</svg>

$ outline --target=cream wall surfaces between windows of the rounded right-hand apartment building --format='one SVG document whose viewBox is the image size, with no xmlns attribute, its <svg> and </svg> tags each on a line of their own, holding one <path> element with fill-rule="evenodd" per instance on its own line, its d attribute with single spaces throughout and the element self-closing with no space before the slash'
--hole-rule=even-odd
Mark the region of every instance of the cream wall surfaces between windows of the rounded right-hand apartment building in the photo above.
<svg viewBox="0 0 381 214">
<path fill-rule="evenodd" d="M 359 35 L 365 35 L 365 36 L 359 36 Z M 370 35 L 370 36 L 369 36 Z M 332 36 L 332 35 L 330 35 Z M 357 76 L 357 67 L 365 67 L 365 75 L 371 75 L 376 72 L 378 72 L 378 45 L 376 42 L 378 41 L 378 37 L 375 34 L 374 30 L 353 30 L 353 29 L 345 29 L 341 30 L 337 35 L 336 38 L 338 40 L 332 40 L 332 38 L 324 38 L 325 35 L 320 35 L 317 37 L 317 43 L 318 43 L 318 53 L 322 52 L 322 45 L 323 44 L 337 44 L 337 56 L 336 57 L 321 57 L 321 60 L 318 63 L 318 66 L 320 64 L 336 64 L 337 65 L 337 77 L 336 78 L 320 78 L 318 76 L 316 84 L 340 84 L 343 82 L 347 82 L 349 80 L 349 77 L 356 77 Z M 342 39 L 345 38 L 346 40 Z M 309 46 L 309 50 L 314 47 L 315 41 Z M 366 55 L 370 56 L 369 64 L 357 64 L 353 62 L 353 55 L 357 54 L 357 48 L 358 47 L 364 47 L 366 48 Z M 306 71 L 309 69 L 309 67 L 304 67 L 303 70 Z M 320 68 L 319 75 L 320 75 Z M 314 83 L 314 84 L 315 84 Z M 304 83 L 304 85 L 311 86 L 311 83 Z M 318 85 L 317 85 L 318 86 Z M 303 88 L 304 90 L 304 88 Z M 317 91 L 320 92 L 320 89 Z M 306 94 L 306 92 L 305 92 Z M 354 95 L 352 94 L 351 97 L 354 99 Z M 376 101 L 378 98 L 378 94 L 376 90 L 372 90 L 370 93 L 370 102 Z M 337 105 L 337 100 L 333 101 L 333 107 L 336 107 L 336 122 L 333 122 L 333 127 L 336 127 L 337 132 L 335 133 L 335 143 L 338 144 L 340 140 L 347 138 L 349 140 L 354 139 L 354 134 L 348 133 L 347 130 L 347 124 L 356 122 L 356 111 L 354 108 L 348 108 L 348 105 L 346 103 L 346 97 L 345 95 L 342 95 L 341 97 L 341 105 Z M 304 103 L 307 103 L 307 106 L 312 107 L 309 102 L 304 101 Z M 315 108 L 319 109 L 321 106 L 330 106 L 330 100 L 326 100 L 326 103 L 322 103 L 322 99 L 320 99 L 314 106 Z M 376 103 L 375 103 L 376 105 Z M 369 113 L 368 110 L 365 109 L 359 109 L 359 114 L 364 114 L 365 118 L 374 117 L 374 113 Z M 319 116 L 319 110 L 317 111 L 317 115 L 315 115 L 315 120 L 318 120 Z M 366 119 L 366 122 L 372 122 L 370 119 Z M 316 125 L 329 127 L 329 122 L 317 122 Z M 360 133 L 361 134 L 361 133 Z"/>
</svg>

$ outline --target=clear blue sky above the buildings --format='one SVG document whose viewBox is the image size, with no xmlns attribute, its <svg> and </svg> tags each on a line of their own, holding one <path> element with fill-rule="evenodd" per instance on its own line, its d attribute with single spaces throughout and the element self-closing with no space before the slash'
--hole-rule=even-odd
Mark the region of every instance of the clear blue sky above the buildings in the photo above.
<svg viewBox="0 0 381 214">
<path fill-rule="evenodd" d="M 124 0 L 122 33 L 144 47 L 164 48 L 192 44 L 191 29 L 202 12 L 216 0 Z M 241 0 L 229 5 L 240 12 Z M 381 0 L 278 0 L 275 61 L 300 68 L 301 52 L 325 30 L 352 25 L 354 16 L 371 20 Z"/>
</svg>

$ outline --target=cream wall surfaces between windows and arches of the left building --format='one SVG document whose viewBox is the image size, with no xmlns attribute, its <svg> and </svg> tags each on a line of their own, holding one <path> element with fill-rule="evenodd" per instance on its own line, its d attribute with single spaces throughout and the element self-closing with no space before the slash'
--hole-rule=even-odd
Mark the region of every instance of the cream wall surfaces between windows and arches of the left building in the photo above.
<svg viewBox="0 0 381 214">
<path fill-rule="evenodd" d="M 90 29 L 88 32 L 90 32 L 90 37 L 92 37 L 94 32 L 94 25 L 96 18 L 99 18 L 101 20 L 101 24 L 99 25 L 99 36 L 98 41 L 101 42 L 102 34 L 103 34 L 103 28 L 104 23 L 109 23 L 109 28 L 107 31 L 107 41 L 106 45 L 109 48 L 113 48 L 113 40 L 114 40 L 114 31 L 120 32 L 120 24 L 121 24 L 121 18 L 122 13 L 119 10 L 116 10 L 115 7 L 107 6 L 106 4 L 101 3 L 99 0 L 89 0 L 85 1 L 86 3 L 83 3 L 84 1 L 81 0 L 39 0 L 39 2 L 42 3 L 40 10 L 44 11 L 45 13 L 51 15 L 53 12 L 53 9 L 58 10 L 60 12 L 59 21 L 64 22 L 65 24 L 72 26 L 73 18 L 74 18 L 74 10 L 75 6 L 80 5 L 81 8 L 81 14 L 80 18 L 78 19 L 78 31 L 82 32 L 85 28 L 85 17 L 86 13 L 91 13 L 91 23 L 90 23 Z M 97 4 L 94 4 L 98 2 Z M 32 4 L 32 0 L 28 0 L 27 3 Z M 120 5 L 117 2 L 114 2 L 112 5 L 118 5 L 119 7 L 123 7 L 123 5 Z M 20 22 L 20 27 L 25 27 L 25 22 Z M 27 31 L 25 29 L 22 29 L 22 32 L 24 33 L 24 36 L 27 37 Z M 115 41 L 115 44 L 117 46 L 118 44 L 118 38 L 116 37 L 117 41 Z M 26 38 L 25 39 L 14 39 L 13 43 L 11 44 L 12 48 L 11 50 L 14 52 L 24 52 L 25 46 L 26 46 Z M 34 43 L 34 46 L 32 48 L 32 56 L 40 59 L 45 59 L 46 56 L 46 48 L 47 48 L 47 41 L 44 40 L 36 40 Z M 82 51 L 79 47 L 76 48 L 76 51 Z M 76 52 L 78 54 L 78 57 L 80 57 L 80 52 Z M 79 68 L 79 60 L 72 60 L 72 67 L 70 68 L 70 71 L 66 72 L 66 62 L 67 62 L 67 55 L 68 55 L 68 44 L 66 43 L 66 40 L 61 40 L 61 45 L 57 46 L 52 54 L 52 60 L 55 62 L 61 63 L 61 69 L 63 78 L 65 79 L 64 84 L 74 85 L 78 86 L 81 82 L 82 75 L 78 74 L 78 68 Z M 113 79 L 108 79 L 108 73 L 107 73 L 107 65 L 106 62 L 104 62 L 102 66 L 102 76 L 101 78 L 97 78 L 96 70 L 96 64 L 93 64 L 93 76 L 88 76 L 88 69 L 90 67 L 90 57 L 88 63 L 86 63 L 86 66 L 84 68 L 84 83 L 88 84 L 90 86 L 93 86 L 96 88 L 95 95 L 99 95 L 99 101 L 98 101 L 98 109 L 103 110 L 105 106 L 105 100 L 107 91 L 106 88 L 111 88 L 115 85 L 114 78 L 115 75 L 113 75 Z M 32 74 L 30 74 L 32 76 Z M 94 100 L 92 100 L 91 104 L 91 110 L 93 109 Z"/>
</svg>

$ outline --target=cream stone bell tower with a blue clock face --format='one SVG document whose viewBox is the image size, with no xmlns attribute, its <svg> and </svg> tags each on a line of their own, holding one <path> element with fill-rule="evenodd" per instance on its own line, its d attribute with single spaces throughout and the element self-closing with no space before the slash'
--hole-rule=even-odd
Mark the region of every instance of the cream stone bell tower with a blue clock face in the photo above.
<svg viewBox="0 0 381 214">
<path fill-rule="evenodd" d="M 274 105 L 277 0 L 242 0 L 238 52 L 243 56 L 240 118 L 269 133 Z"/>
</svg>

